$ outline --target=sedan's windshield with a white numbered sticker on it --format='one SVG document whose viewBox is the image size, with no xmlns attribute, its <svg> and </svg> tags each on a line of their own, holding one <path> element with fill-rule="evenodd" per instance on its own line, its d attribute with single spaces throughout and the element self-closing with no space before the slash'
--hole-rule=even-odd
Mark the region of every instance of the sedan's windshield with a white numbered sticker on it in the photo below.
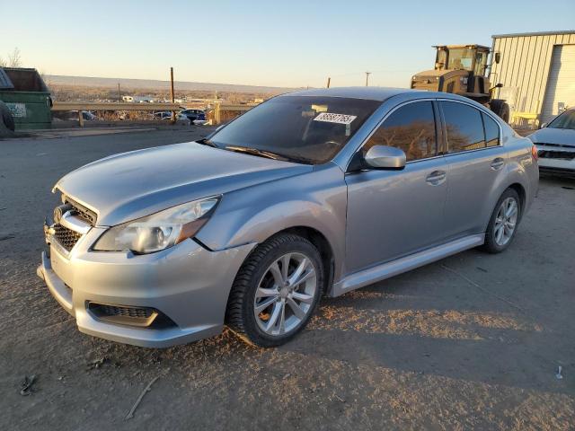
<svg viewBox="0 0 575 431">
<path fill-rule="evenodd" d="M 342 97 L 280 96 L 234 119 L 208 143 L 232 151 L 259 150 L 297 163 L 326 163 L 380 104 Z"/>
</svg>

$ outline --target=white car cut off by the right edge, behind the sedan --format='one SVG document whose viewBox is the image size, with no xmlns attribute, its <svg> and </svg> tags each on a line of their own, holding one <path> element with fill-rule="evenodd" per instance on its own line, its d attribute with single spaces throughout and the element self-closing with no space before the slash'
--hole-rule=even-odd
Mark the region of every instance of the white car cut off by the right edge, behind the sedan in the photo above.
<svg viewBox="0 0 575 431">
<path fill-rule="evenodd" d="M 539 172 L 575 178 L 575 108 L 527 137 L 537 147 Z"/>
</svg>

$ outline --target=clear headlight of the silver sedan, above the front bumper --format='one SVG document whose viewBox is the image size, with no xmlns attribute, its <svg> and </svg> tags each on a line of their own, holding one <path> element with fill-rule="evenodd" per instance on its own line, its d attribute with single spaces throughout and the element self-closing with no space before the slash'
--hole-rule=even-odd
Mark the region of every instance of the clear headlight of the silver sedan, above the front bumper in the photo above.
<svg viewBox="0 0 575 431">
<path fill-rule="evenodd" d="M 194 200 L 151 216 L 118 224 L 102 234 L 95 251 L 127 251 L 146 254 L 172 247 L 198 233 L 208 222 L 219 198 Z"/>
</svg>

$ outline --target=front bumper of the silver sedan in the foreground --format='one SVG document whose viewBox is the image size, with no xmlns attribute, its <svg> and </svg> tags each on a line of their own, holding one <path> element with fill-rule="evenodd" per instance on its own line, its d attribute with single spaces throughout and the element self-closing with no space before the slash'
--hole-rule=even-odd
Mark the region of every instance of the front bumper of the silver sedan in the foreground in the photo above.
<svg viewBox="0 0 575 431">
<path fill-rule="evenodd" d="M 208 251 L 193 240 L 148 255 L 96 252 L 89 247 L 103 232 L 94 227 L 72 251 L 52 241 L 37 270 L 81 332 L 142 347 L 169 347 L 217 335 L 223 328 L 235 274 L 254 244 Z M 173 324 L 142 328 L 103 321 L 89 303 L 150 307 Z"/>
</svg>

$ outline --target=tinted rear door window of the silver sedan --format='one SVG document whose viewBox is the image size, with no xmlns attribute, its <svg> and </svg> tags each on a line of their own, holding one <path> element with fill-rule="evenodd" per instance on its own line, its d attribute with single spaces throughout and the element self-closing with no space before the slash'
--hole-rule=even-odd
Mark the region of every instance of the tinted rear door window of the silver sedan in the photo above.
<svg viewBox="0 0 575 431">
<path fill-rule="evenodd" d="M 449 153 L 485 148 L 482 113 L 475 108 L 454 101 L 442 101 L 446 120 Z"/>
</svg>

